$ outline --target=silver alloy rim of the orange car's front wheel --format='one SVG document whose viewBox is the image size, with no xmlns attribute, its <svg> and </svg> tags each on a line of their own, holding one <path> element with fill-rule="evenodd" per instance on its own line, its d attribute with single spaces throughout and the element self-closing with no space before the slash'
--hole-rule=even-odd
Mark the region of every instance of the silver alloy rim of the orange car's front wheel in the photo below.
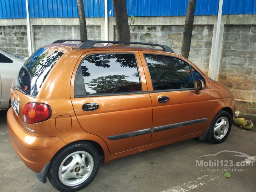
<svg viewBox="0 0 256 192">
<path fill-rule="evenodd" d="M 222 139 L 227 134 L 229 121 L 226 117 L 219 118 L 214 125 L 214 137 Z"/>
</svg>

